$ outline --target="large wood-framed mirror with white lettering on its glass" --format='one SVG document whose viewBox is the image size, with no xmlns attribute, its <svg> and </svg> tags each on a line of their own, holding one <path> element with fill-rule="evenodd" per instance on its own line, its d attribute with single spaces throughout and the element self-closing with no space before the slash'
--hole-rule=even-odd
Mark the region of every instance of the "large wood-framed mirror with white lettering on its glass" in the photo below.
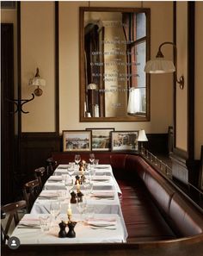
<svg viewBox="0 0 203 256">
<path fill-rule="evenodd" d="M 80 8 L 80 121 L 150 121 L 150 9 Z"/>
</svg>

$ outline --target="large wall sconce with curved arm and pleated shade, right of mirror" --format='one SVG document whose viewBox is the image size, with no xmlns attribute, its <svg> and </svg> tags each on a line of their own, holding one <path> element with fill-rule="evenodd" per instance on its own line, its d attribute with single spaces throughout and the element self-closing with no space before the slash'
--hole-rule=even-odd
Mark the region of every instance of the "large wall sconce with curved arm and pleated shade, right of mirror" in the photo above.
<svg viewBox="0 0 203 256">
<path fill-rule="evenodd" d="M 164 45 L 172 45 L 175 48 L 175 64 L 171 60 L 163 59 L 161 48 Z M 177 47 L 173 42 L 165 41 L 158 47 L 156 59 L 147 61 L 145 65 L 145 72 L 151 74 L 171 73 L 175 72 L 175 81 L 179 84 L 180 89 L 184 88 L 184 77 L 177 78 Z"/>
</svg>

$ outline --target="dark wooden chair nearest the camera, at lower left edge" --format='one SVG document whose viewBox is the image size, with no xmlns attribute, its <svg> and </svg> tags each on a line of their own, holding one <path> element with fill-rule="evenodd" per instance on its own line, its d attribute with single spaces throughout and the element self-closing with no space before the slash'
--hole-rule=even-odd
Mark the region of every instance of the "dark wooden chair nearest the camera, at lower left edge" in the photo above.
<svg viewBox="0 0 203 256">
<path fill-rule="evenodd" d="M 9 230 L 11 228 L 11 223 L 14 220 L 15 227 L 19 222 L 19 209 L 26 209 L 27 203 L 25 200 L 21 200 L 15 203 L 8 203 L 1 208 L 1 219 L 5 219 L 6 215 L 8 220 L 6 222 L 5 228 L 3 228 L 1 223 L 1 242 L 5 244 L 6 240 L 9 240 Z"/>
</svg>

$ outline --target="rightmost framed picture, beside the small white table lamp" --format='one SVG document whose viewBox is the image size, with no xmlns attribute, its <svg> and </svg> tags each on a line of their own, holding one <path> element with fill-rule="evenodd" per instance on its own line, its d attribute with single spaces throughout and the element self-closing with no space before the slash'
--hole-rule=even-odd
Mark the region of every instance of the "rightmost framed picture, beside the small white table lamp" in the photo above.
<svg viewBox="0 0 203 256">
<path fill-rule="evenodd" d="M 111 133 L 112 151 L 138 151 L 138 131 L 116 131 Z"/>
</svg>

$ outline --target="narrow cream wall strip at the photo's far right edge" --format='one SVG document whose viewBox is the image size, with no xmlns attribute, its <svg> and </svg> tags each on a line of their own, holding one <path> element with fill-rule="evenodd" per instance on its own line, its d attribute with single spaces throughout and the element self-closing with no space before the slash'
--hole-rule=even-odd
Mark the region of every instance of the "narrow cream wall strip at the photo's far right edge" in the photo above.
<svg viewBox="0 0 203 256">
<path fill-rule="evenodd" d="M 195 2 L 195 85 L 194 85 L 194 156 L 200 159 L 203 145 L 203 2 Z"/>
</svg>

